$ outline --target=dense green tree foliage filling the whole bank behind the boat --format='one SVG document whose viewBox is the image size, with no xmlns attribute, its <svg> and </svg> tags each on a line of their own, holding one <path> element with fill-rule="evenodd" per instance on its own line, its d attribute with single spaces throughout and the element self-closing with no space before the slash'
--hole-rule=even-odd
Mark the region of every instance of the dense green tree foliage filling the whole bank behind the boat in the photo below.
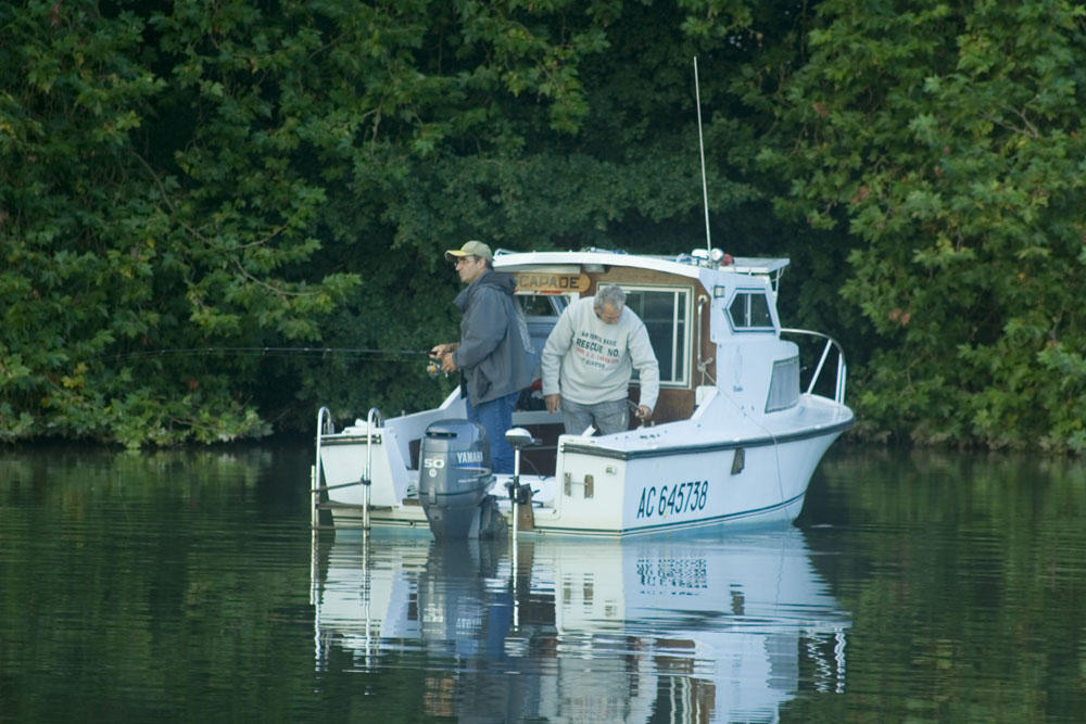
<svg viewBox="0 0 1086 724">
<path fill-rule="evenodd" d="M 442 251 L 793 258 L 858 434 L 1086 447 L 1083 8 L 0 5 L 0 439 L 128 446 L 434 402 Z M 175 351 L 165 354 L 165 351 Z"/>
</svg>

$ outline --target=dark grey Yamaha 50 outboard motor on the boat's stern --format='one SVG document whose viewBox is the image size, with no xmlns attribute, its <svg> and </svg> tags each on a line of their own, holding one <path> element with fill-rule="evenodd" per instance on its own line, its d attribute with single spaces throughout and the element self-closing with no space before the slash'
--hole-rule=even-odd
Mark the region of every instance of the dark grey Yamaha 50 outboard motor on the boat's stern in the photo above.
<svg viewBox="0 0 1086 724">
<path fill-rule="evenodd" d="M 487 431 L 478 422 L 439 420 L 422 435 L 418 499 L 435 538 L 493 537 L 505 532 Z"/>
</svg>

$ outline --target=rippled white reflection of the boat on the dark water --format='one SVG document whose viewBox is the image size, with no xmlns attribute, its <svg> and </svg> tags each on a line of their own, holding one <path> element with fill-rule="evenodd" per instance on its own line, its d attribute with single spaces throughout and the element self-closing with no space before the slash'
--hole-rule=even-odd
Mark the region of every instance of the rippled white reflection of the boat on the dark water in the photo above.
<svg viewBox="0 0 1086 724">
<path fill-rule="evenodd" d="M 458 721 L 772 722 L 845 689 L 826 588 L 793 528 L 515 556 L 339 530 L 314 545 L 316 665 L 424 672 L 425 713 Z"/>
</svg>

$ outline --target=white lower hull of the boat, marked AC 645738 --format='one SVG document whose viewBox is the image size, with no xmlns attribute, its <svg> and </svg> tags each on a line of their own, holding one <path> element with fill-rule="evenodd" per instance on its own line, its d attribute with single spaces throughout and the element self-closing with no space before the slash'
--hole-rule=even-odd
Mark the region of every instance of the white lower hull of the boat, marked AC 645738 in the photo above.
<svg viewBox="0 0 1086 724">
<path fill-rule="evenodd" d="M 519 534 L 626 537 L 715 525 L 791 523 L 803 510 L 816 467 L 846 427 L 829 425 L 781 439 L 709 440 L 700 445 L 635 450 L 608 447 L 606 439 L 593 439 L 602 442 L 590 445 L 589 439 L 563 436 L 557 474 L 522 480 L 534 495 L 531 523 L 521 522 Z M 681 432 L 673 436 L 686 437 Z M 375 471 L 387 469 L 387 448 L 382 443 L 369 444 L 367 450 L 364 441 L 326 442 L 327 483 L 350 482 L 357 477 L 352 471 L 363 469 L 367 456 Z M 500 499 L 500 509 L 512 525 L 513 509 L 504 495 L 507 481 L 508 477 L 495 477 L 490 493 Z M 405 485 L 408 496 L 399 501 L 380 493 L 380 487 L 375 477 L 369 516 L 375 529 L 427 524 L 419 500 L 411 497 L 413 482 Z M 362 523 L 364 490 L 357 485 L 329 493 L 336 525 Z"/>
</svg>

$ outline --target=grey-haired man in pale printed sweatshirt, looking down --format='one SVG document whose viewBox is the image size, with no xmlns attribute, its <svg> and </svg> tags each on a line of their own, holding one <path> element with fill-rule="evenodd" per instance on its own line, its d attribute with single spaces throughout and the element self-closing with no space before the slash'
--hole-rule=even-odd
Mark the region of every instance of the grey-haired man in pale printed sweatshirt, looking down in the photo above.
<svg viewBox="0 0 1086 724">
<path fill-rule="evenodd" d="M 542 366 L 546 408 L 561 410 L 571 435 L 590 424 L 604 435 L 628 429 L 627 394 L 634 368 L 641 378 L 637 417 L 653 414 L 660 391 L 648 331 L 626 307 L 626 292 L 616 284 L 563 310 L 543 347 Z"/>
</svg>

